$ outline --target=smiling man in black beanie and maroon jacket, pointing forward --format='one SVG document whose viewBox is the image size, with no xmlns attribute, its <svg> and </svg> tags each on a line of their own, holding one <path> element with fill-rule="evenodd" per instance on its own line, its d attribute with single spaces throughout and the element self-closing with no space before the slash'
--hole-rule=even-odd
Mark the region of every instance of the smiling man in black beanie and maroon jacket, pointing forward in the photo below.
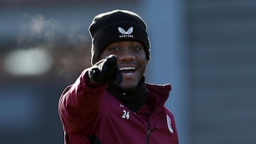
<svg viewBox="0 0 256 144">
<path fill-rule="evenodd" d="M 65 143 L 178 143 L 164 106 L 171 85 L 145 83 L 150 44 L 146 23 L 132 11 L 101 13 L 89 28 L 92 67 L 60 96 Z"/>
</svg>

